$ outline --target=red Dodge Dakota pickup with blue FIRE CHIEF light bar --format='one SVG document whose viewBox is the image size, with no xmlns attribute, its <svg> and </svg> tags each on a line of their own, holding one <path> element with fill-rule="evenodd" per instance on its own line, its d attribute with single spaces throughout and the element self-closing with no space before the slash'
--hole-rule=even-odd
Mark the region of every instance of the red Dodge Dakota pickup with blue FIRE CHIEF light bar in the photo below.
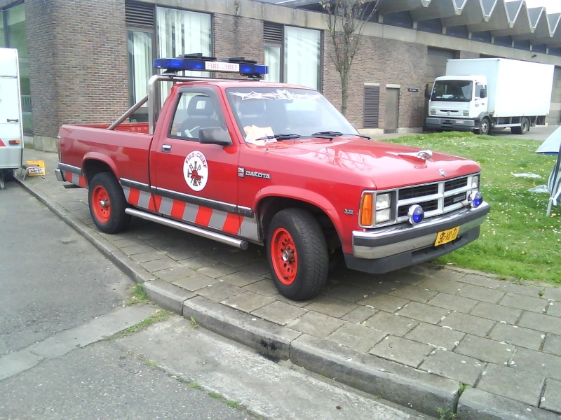
<svg viewBox="0 0 561 420">
<path fill-rule="evenodd" d="M 371 141 L 320 93 L 259 81 L 266 66 L 156 59 L 149 94 L 111 126 L 60 128 L 60 181 L 88 188 L 102 232 L 131 216 L 266 247 L 276 287 L 317 295 L 330 261 L 384 273 L 479 236 L 489 204 L 477 163 Z M 251 80 L 178 76 L 231 71 Z M 173 82 L 167 99 L 161 82 Z M 165 85 L 163 85 L 165 86 Z M 148 102 L 148 123 L 124 123 Z"/>
</svg>

